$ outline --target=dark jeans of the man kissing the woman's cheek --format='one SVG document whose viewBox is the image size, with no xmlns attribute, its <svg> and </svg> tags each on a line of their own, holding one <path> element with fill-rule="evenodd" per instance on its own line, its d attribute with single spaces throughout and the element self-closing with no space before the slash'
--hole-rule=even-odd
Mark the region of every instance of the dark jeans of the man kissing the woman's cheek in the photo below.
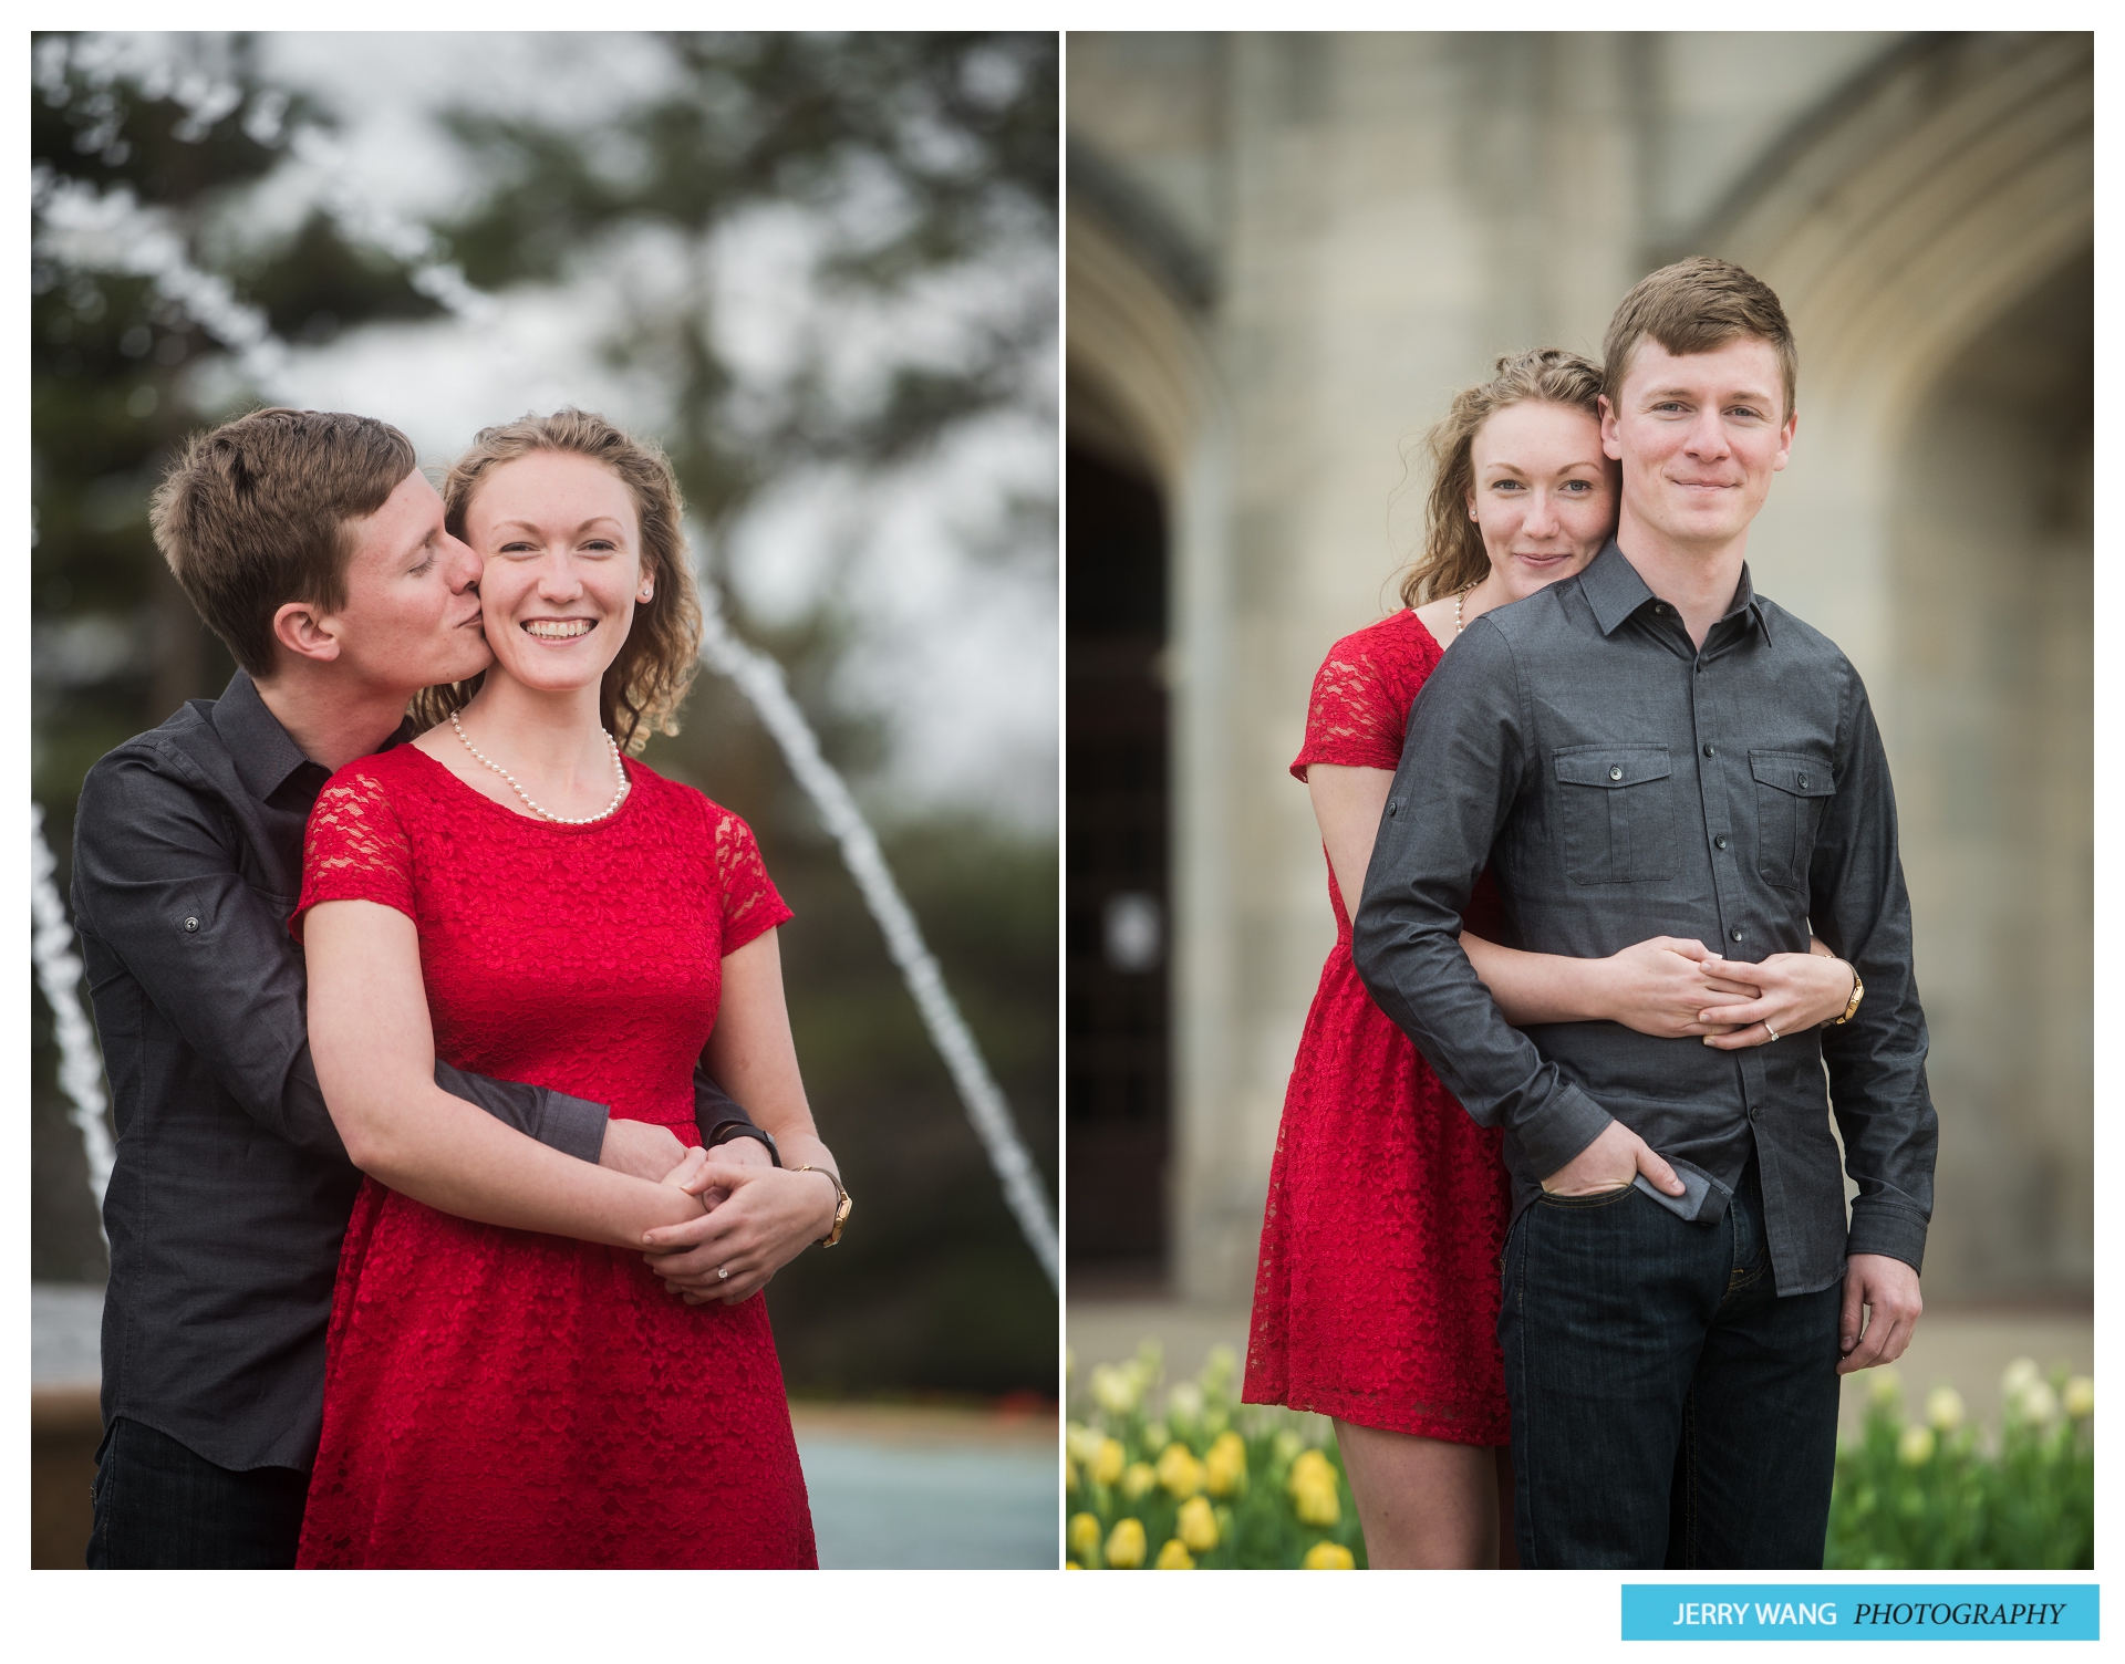
<svg viewBox="0 0 2125 1664">
<path fill-rule="evenodd" d="M 308 1473 L 217 1468 L 121 1415 L 96 1451 L 89 1566 L 293 1566 L 308 1494 Z"/>
</svg>

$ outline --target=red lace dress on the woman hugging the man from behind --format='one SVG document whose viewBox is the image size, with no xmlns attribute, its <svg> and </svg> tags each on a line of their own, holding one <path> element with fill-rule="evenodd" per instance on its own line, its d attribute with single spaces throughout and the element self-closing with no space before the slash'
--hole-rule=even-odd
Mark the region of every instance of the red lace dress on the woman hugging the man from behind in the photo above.
<svg viewBox="0 0 2125 1664">
<path fill-rule="evenodd" d="M 1337 642 L 1313 678 L 1292 774 L 1305 780 L 1309 763 L 1396 767 L 1409 708 L 1441 652 L 1415 612 Z M 1498 1133 L 1468 1120 L 1364 990 L 1334 869 L 1328 901 L 1334 948 L 1284 1094 L 1241 1398 L 1502 1445 L 1509 1184 Z M 1468 929 L 1494 933 L 1494 907 L 1483 880 Z"/>
</svg>

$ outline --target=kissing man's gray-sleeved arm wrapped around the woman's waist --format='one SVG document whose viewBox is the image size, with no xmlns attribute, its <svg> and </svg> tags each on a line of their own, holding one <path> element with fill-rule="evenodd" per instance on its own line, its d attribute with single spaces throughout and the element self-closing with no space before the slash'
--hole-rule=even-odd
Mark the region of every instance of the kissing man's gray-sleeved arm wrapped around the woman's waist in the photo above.
<svg viewBox="0 0 2125 1664">
<path fill-rule="evenodd" d="M 244 1114 L 346 1160 L 310 1065 L 302 950 L 244 882 L 232 829 L 185 767 L 128 752 L 89 769 L 74 816 L 74 912 Z M 552 1150 L 599 1156 L 604 1105 L 442 1063 L 436 1084 Z"/>
</svg>

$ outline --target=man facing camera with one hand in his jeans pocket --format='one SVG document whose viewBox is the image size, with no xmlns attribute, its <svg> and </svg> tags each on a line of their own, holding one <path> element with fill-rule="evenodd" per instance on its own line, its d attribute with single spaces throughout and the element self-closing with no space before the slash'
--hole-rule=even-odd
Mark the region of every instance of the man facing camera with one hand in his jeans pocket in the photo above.
<svg viewBox="0 0 2125 1664">
<path fill-rule="evenodd" d="M 1504 1128 L 1522 1564 L 1819 1566 L 1838 1375 L 1908 1343 L 1932 1216 L 1889 769 L 1857 672 L 1745 563 L 1796 425 L 1776 295 L 1726 261 L 1670 266 L 1604 355 L 1615 538 L 1432 674 L 1356 961 Z M 1853 1003 L 1732 1052 L 1606 1022 L 1519 1033 L 1456 941 L 1485 861 L 1519 946 L 1674 935 L 1762 958 L 1813 927 L 1855 967 Z"/>
</svg>

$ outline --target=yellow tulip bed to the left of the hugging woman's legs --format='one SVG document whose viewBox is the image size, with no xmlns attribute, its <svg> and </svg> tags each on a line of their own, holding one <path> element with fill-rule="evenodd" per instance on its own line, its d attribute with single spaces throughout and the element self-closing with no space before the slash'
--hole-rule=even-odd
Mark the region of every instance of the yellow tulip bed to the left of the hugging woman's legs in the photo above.
<svg viewBox="0 0 2125 1664">
<path fill-rule="evenodd" d="M 1154 1341 L 1094 1364 L 1065 1426 L 1073 1570 L 1362 1570 L 1364 1530 L 1328 1417 L 1241 1405 L 1237 1360 L 1160 1392 Z"/>
</svg>

